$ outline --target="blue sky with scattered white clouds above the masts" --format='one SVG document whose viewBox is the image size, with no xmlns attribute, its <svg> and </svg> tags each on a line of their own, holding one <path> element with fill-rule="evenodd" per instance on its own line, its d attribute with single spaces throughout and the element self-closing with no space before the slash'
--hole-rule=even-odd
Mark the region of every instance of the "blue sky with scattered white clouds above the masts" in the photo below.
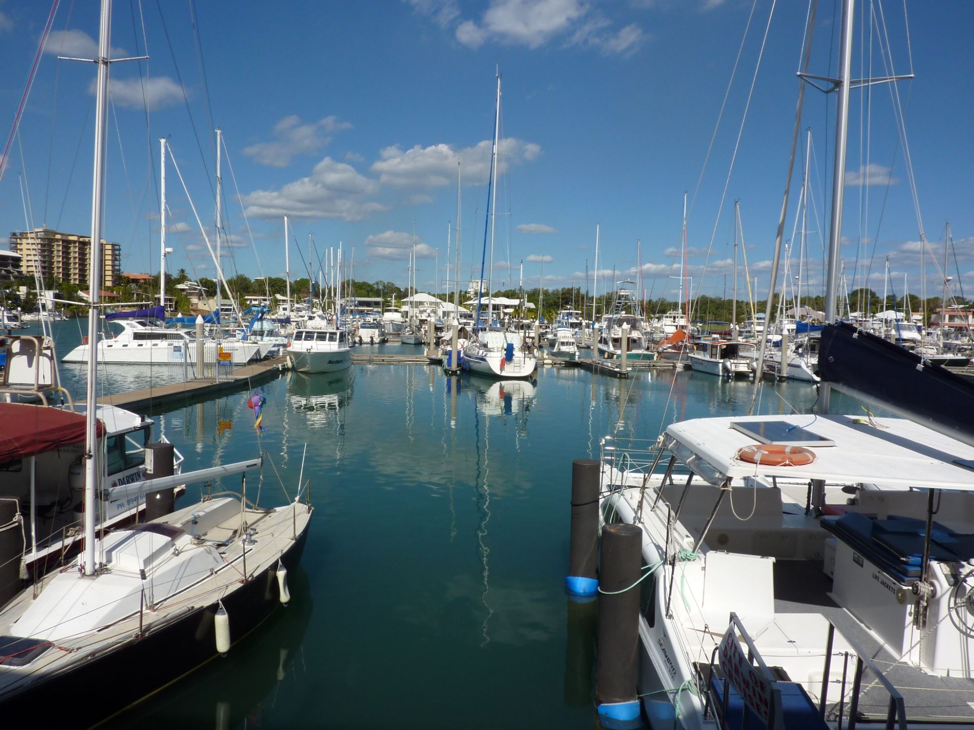
<svg viewBox="0 0 974 730">
<path fill-rule="evenodd" d="M 218 126 L 241 194 L 238 198 L 224 160 L 232 242 L 224 260 L 228 275 L 283 274 L 281 215 L 287 212 L 301 250 L 299 255 L 296 246 L 291 248 L 292 277 L 304 275 L 300 256 L 307 256 L 308 235 L 314 234 L 319 252 L 342 241 L 348 260 L 354 249 L 356 278 L 405 284 L 415 222 L 419 285 L 431 289 L 436 249 L 443 269 L 448 222 L 456 218 L 459 159 L 464 172 L 461 279 L 466 281 L 483 243 L 500 67 L 506 170 L 500 176 L 498 212 L 505 215 L 497 220 L 495 286 L 516 286 L 521 260 L 526 285 L 537 285 L 542 258 L 545 286 L 569 285 L 573 277 L 583 286 L 586 259 L 594 269 L 600 223 L 599 288 L 611 281 L 614 267 L 622 278 L 638 275 L 641 263 L 646 289 L 675 298 L 677 282 L 670 275 L 676 273 L 683 195 L 689 191 L 693 290 L 702 283 L 704 292 L 721 295 L 725 282 L 730 289 L 733 201 L 739 199 L 750 273 L 759 277 L 764 297 L 794 124 L 804 2 L 777 2 L 762 53 L 770 0 L 213 0 L 195 4 L 202 64 L 192 4 L 132 0 L 116 5 L 113 48 L 135 55 L 147 46 L 150 55 L 141 65 L 148 115 L 139 65 L 112 67 L 106 235 L 123 244 L 126 271 L 158 270 L 152 176 L 158 175 L 160 136 L 169 137 L 212 238 L 210 130 Z M 50 9 L 44 6 L 0 3 L 5 136 Z M 830 64 L 833 71 L 837 64 L 840 10 L 832 2 L 820 6 L 809 71 L 827 75 Z M 854 184 L 846 189 L 843 260 L 850 288 L 869 268 L 870 285 L 881 293 L 889 256 L 893 289 L 902 293 L 907 274 L 911 291 L 918 293 L 921 257 L 912 177 L 926 237 L 941 260 L 944 223 L 952 224 L 970 296 L 972 100 L 969 84 L 960 80 L 974 76 L 974 55 L 968 51 L 974 6 L 959 0 L 908 1 L 906 10 L 909 43 L 902 2 L 875 3 L 872 21 L 870 6 L 860 4 L 857 11 L 857 46 L 872 44 L 873 51 L 856 51 L 854 75 L 869 73 L 870 58 L 873 75 L 885 75 L 884 59 L 888 64 L 890 57 L 896 73 L 912 68 L 917 74 L 915 81 L 898 85 L 912 176 L 898 142 L 890 87 L 874 87 L 869 115 L 865 95 L 853 91 L 846 171 Z M 20 173 L 25 173 L 35 225 L 77 233 L 91 227 L 94 66 L 58 61 L 56 55 L 94 53 L 94 3 L 62 3 L 53 27 L 20 139 L 0 181 L 0 221 L 6 231 L 25 226 Z M 734 156 L 759 53 L 761 65 Z M 814 168 L 811 272 L 805 280 L 813 293 L 821 282 L 834 145 L 834 103 L 826 102 L 824 94 L 806 91 L 802 128 L 812 131 Z M 786 238 L 793 237 L 804 146 L 803 133 Z M 168 189 L 168 244 L 175 248 L 170 269 L 213 275 L 171 165 Z M 860 278 L 853 281 L 857 250 Z M 797 274 L 797 262 L 794 267 Z M 924 267 L 927 294 L 939 294 L 940 274 L 929 258 Z M 954 275 L 953 257 L 950 268 Z M 441 271 L 440 280 L 445 275 Z"/>
</svg>

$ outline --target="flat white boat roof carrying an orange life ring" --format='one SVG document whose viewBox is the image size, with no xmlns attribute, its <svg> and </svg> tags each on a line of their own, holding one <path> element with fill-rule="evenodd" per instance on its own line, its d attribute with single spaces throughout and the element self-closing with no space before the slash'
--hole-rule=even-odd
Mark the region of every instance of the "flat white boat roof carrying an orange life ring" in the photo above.
<svg viewBox="0 0 974 730">
<path fill-rule="evenodd" d="M 762 421 L 785 421 L 835 445 L 807 447 L 816 459 L 806 466 L 759 467 L 737 459 L 738 449 L 757 442 L 731 423 Z M 974 467 L 958 463 L 974 464 L 974 447 L 906 419 L 799 414 L 684 420 L 666 429 L 666 447 L 713 485 L 761 475 L 974 492 Z"/>
</svg>

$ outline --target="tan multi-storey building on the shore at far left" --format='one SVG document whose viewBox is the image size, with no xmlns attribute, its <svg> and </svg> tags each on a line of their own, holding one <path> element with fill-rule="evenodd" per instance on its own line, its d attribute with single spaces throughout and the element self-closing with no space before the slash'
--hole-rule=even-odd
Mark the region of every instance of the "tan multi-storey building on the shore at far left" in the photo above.
<svg viewBox="0 0 974 730">
<path fill-rule="evenodd" d="M 53 276 L 59 281 L 88 283 L 91 236 L 62 234 L 49 228 L 15 231 L 10 235 L 10 250 L 20 255 L 20 273 Z M 101 241 L 101 285 L 110 289 L 120 283 L 122 246 Z"/>
</svg>

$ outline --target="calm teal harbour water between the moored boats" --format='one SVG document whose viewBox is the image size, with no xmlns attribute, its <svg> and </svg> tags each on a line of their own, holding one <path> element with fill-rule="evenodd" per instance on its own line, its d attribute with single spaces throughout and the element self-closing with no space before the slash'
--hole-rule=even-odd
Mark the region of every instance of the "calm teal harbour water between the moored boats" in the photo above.
<svg viewBox="0 0 974 730">
<path fill-rule="evenodd" d="M 78 332 L 58 324 L 61 354 Z M 79 372 L 62 378 L 77 386 Z M 102 372 L 112 390 L 149 384 Z M 743 414 L 751 395 L 690 371 L 543 368 L 532 384 L 387 365 L 258 389 L 263 436 L 247 392 L 153 418 L 185 469 L 264 454 L 247 495 L 267 506 L 293 498 L 304 458 L 316 512 L 292 600 L 119 727 L 596 726 L 563 590 L 572 459 L 597 458 L 617 429 L 656 438 L 672 420 Z M 761 411 L 815 399 L 805 383 L 768 385 Z"/>
</svg>

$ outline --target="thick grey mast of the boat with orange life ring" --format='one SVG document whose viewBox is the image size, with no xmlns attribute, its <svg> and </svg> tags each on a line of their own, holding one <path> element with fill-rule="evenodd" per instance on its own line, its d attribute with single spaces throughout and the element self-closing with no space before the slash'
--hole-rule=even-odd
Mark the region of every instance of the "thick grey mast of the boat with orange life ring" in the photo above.
<svg viewBox="0 0 974 730">
<path fill-rule="evenodd" d="M 839 52 L 839 78 L 835 91 L 836 102 L 836 158 L 832 169 L 832 218 L 829 223 L 829 256 L 825 278 L 825 321 L 836 320 L 836 296 L 839 278 L 840 244 L 843 235 L 843 197 L 845 193 L 845 149 L 849 121 L 849 78 L 852 71 L 852 23 L 855 0 L 843 0 L 842 47 Z M 829 412 L 832 388 L 821 383 L 819 411 Z"/>
</svg>

